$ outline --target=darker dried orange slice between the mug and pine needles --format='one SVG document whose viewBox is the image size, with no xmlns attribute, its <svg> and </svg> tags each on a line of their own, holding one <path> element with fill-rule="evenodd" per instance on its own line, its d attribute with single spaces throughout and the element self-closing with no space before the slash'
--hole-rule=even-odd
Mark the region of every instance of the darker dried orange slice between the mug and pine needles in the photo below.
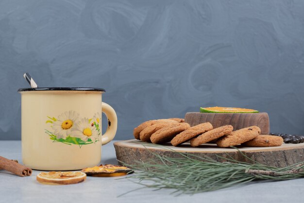
<svg viewBox="0 0 304 203">
<path fill-rule="evenodd" d="M 90 168 L 84 168 L 81 172 L 84 172 L 88 176 L 113 177 L 127 175 L 129 173 L 133 173 L 134 171 L 125 166 L 106 164 Z"/>
</svg>

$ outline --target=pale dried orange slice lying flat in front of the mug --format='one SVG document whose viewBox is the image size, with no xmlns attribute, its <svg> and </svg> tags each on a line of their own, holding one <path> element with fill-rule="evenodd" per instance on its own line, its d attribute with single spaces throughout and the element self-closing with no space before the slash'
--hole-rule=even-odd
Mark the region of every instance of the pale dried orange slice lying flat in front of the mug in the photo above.
<svg viewBox="0 0 304 203">
<path fill-rule="evenodd" d="M 36 177 L 37 181 L 49 185 L 69 185 L 84 182 L 86 174 L 73 171 L 50 171 L 41 172 Z"/>
</svg>

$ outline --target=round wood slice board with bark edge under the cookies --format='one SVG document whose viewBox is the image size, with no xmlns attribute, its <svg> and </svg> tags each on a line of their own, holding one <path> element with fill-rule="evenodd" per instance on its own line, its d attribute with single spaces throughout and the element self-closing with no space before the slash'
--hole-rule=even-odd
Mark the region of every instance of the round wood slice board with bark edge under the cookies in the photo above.
<svg viewBox="0 0 304 203">
<path fill-rule="evenodd" d="M 251 148 L 237 146 L 237 148 L 248 156 L 245 158 L 235 148 L 219 148 L 215 144 L 204 144 L 197 148 L 190 147 L 189 143 L 182 144 L 180 147 L 173 147 L 170 143 L 163 146 L 144 143 L 139 140 L 125 140 L 115 142 L 117 159 L 126 164 L 138 164 L 137 162 L 147 162 L 153 158 L 151 152 L 166 155 L 169 157 L 182 157 L 178 152 L 187 152 L 199 157 L 210 157 L 214 160 L 227 161 L 221 157 L 232 157 L 237 161 L 253 163 L 250 159 L 267 166 L 286 167 L 299 162 L 304 162 L 304 143 L 283 144 L 280 147 Z M 165 147 L 165 148 L 164 148 Z M 172 151 L 174 150 L 174 151 Z"/>
</svg>

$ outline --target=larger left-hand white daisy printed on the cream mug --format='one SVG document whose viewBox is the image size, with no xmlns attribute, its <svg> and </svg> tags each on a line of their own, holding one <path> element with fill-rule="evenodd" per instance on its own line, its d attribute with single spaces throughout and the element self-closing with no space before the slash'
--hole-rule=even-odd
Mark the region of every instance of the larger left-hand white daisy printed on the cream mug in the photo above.
<svg viewBox="0 0 304 203">
<path fill-rule="evenodd" d="M 66 138 L 71 133 L 74 125 L 77 123 L 79 113 L 76 111 L 66 111 L 58 116 L 58 120 L 53 122 L 52 129 L 57 139 Z"/>
</svg>

